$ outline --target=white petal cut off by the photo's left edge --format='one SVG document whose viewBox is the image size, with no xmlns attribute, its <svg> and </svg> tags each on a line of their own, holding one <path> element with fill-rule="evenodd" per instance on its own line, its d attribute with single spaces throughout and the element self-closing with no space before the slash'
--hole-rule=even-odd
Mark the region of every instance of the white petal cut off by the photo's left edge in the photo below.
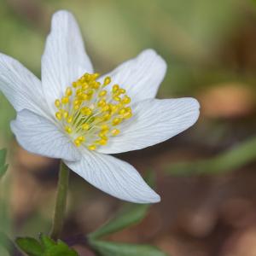
<svg viewBox="0 0 256 256">
<path fill-rule="evenodd" d="M 19 61 L 0 54 L 0 90 L 16 111 L 27 108 L 43 113 L 43 91 L 40 80 Z"/>
</svg>

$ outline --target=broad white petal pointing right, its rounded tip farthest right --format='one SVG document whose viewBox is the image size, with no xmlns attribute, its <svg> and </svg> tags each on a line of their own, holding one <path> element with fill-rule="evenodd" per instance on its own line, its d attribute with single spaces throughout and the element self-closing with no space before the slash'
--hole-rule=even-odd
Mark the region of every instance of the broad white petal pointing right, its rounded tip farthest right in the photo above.
<svg viewBox="0 0 256 256">
<path fill-rule="evenodd" d="M 119 126 L 120 134 L 98 152 L 115 154 L 164 142 L 195 124 L 199 103 L 193 98 L 151 99 L 132 106 L 132 112 L 133 117 Z"/>
</svg>

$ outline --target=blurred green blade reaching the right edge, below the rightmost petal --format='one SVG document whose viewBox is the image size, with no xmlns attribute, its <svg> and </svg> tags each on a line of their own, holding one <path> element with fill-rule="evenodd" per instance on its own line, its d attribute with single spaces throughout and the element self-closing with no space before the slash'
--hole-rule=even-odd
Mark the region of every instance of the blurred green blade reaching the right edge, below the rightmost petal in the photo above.
<svg viewBox="0 0 256 256">
<path fill-rule="evenodd" d="M 256 160 L 256 137 L 246 142 L 227 149 L 224 153 L 218 154 L 207 160 L 195 160 L 193 162 L 177 163 L 169 167 L 166 172 L 174 175 L 193 174 L 220 174 L 235 171 L 241 166 Z"/>
</svg>

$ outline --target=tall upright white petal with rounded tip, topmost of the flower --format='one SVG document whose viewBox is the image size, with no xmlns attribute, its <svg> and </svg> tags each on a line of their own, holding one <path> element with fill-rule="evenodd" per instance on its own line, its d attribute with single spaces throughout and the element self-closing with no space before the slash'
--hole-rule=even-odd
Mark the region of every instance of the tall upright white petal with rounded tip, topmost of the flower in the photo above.
<svg viewBox="0 0 256 256">
<path fill-rule="evenodd" d="M 42 57 L 42 83 L 49 108 L 54 111 L 55 99 L 63 96 L 67 86 L 92 71 L 76 20 L 69 12 L 58 11 Z"/>
</svg>

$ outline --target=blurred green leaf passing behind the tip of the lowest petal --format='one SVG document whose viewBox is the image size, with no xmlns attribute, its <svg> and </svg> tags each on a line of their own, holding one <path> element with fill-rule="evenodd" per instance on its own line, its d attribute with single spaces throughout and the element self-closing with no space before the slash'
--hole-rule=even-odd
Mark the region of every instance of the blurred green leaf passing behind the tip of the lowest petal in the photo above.
<svg viewBox="0 0 256 256">
<path fill-rule="evenodd" d="M 154 187 L 154 172 L 150 171 L 146 174 L 145 180 L 151 187 Z M 148 212 L 148 204 L 131 204 L 127 203 L 121 210 L 111 218 L 101 228 L 89 235 L 90 239 L 107 236 L 119 230 L 123 230 L 132 224 L 137 224 L 145 218 Z"/>
</svg>

